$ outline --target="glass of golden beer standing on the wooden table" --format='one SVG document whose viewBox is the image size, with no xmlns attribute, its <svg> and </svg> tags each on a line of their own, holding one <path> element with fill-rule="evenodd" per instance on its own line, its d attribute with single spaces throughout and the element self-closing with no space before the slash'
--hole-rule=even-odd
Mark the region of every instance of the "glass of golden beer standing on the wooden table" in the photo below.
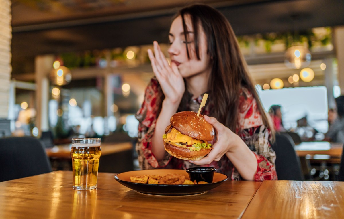
<svg viewBox="0 0 344 219">
<path fill-rule="evenodd" d="M 72 138 L 73 188 L 97 188 L 100 138 Z"/>
</svg>

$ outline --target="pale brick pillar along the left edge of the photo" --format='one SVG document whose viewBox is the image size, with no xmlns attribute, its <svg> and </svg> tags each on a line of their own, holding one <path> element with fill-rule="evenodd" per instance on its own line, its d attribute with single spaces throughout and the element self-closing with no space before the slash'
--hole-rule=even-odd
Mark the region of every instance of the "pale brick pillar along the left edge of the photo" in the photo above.
<svg viewBox="0 0 344 219">
<path fill-rule="evenodd" d="M 0 0 L 0 118 L 8 118 L 11 81 L 11 1 Z"/>
</svg>

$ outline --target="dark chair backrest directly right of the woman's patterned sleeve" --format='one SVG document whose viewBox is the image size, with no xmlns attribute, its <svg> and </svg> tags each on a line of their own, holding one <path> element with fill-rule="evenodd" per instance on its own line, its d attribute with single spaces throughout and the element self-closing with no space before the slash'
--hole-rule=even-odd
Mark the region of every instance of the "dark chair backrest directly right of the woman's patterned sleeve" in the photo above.
<svg viewBox="0 0 344 219">
<path fill-rule="evenodd" d="M 294 150 L 292 139 L 276 133 L 276 142 L 272 149 L 276 152 L 278 180 L 304 180 L 300 159 Z"/>
</svg>

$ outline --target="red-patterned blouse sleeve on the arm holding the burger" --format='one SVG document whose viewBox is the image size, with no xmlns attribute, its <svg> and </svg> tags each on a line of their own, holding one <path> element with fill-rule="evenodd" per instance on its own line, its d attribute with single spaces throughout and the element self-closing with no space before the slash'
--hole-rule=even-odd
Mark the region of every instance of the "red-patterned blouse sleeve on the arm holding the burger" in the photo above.
<svg viewBox="0 0 344 219">
<path fill-rule="evenodd" d="M 276 153 L 271 148 L 271 131 L 262 122 L 257 102 L 247 90 L 239 98 L 239 136 L 257 158 L 255 181 L 277 180 Z M 239 180 L 234 168 L 232 179 Z"/>
</svg>

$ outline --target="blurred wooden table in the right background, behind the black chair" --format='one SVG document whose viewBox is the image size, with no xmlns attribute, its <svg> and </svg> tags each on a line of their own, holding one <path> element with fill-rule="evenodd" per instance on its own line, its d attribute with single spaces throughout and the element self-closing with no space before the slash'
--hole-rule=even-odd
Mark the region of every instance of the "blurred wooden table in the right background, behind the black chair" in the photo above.
<svg viewBox="0 0 344 219">
<path fill-rule="evenodd" d="M 305 157 L 307 154 L 326 154 L 330 157 L 341 157 L 343 144 L 326 141 L 301 142 L 294 147 L 299 157 Z"/>
</svg>

